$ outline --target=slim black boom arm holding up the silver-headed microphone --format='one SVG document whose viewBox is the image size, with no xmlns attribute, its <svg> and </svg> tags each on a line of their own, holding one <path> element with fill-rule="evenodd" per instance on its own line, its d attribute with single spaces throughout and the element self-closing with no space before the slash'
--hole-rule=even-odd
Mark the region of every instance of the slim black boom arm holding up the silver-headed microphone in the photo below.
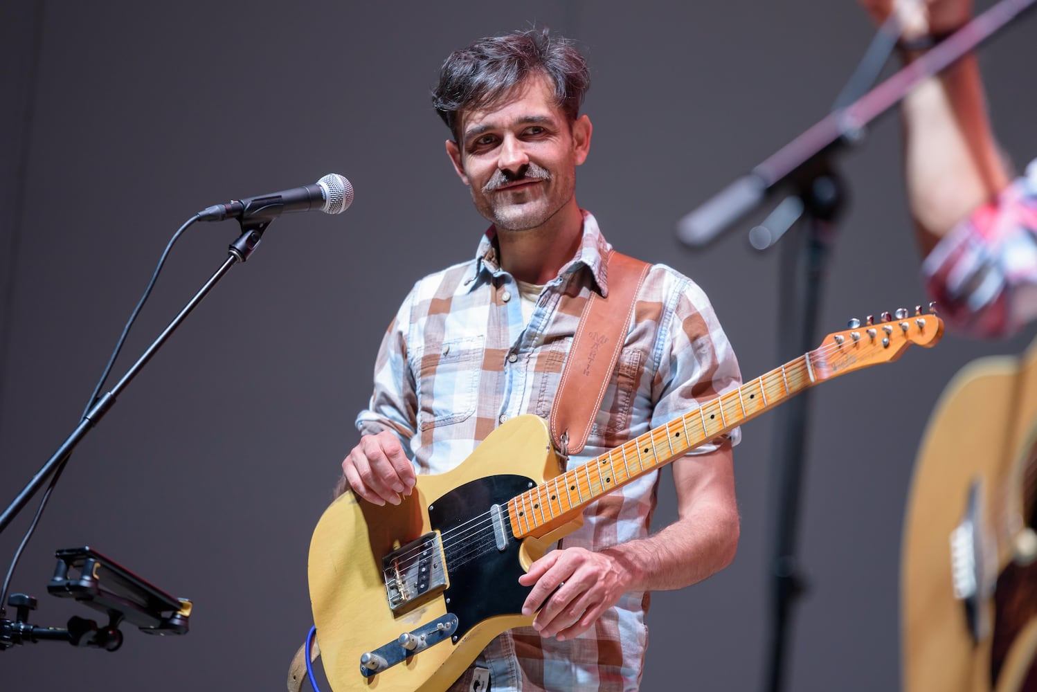
<svg viewBox="0 0 1037 692">
<path fill-rule="evenodd" d="M 138 358 L 138 361 L 127 371 L 122 379 L 112 387 L 110 392 L 100 397 L 93 406 L 83 415 L 83 420 L 80 422 L 79 426 L 72 432 L 71 435 L 62 442 L 61 446 L 58 448 L 57 452 L 44 464 L 43 468 L 36 472 L 36 474 L 29 481 L 28 485 L 15 497 L 15 500 L 4 510 L 4 513 L 0 515 L 0 532 L 3 532 L 4 528 L 11 522 L 15 516 L 21 512 L 32 496 L 39 490 L 39 488 L 47 482 L 47 479 L 51 477 L 55 471 L 59 470 L 68 461 L 72 456 L 73 450 L 77 444 L 82 441 L 93 426 L 104 417 L 105 413 L 115 404 L 115 400 L 119 394 L 130 384 L 134 377 L 147 365 L 148 361 L 151 359 L 158 350 L 162 347 L 166 340 L 173 334 L 173 331 L 187 319 L 188 315 L 198 306 L 199 302 L 208 294 L 216 284 L 223 279 L 224 276 L 230 270 L 237 262 L 245 262 L 248 260 L 249 256 L 259 244 L 262 238 L 262 232 L 267 230 L 267 227 L 273 221 L 273 219 L 260 218 L 260 219 L 242 219 L 240 220 L 242 224 L 242 235 L 230 243 L 229 255 L 220 268 L 205 282 L 205 284 L 195 293 L 187 306 L 179 312 L 176 317 L 169 323 L 169 325 L 159 335 L 159 337 L 152 342 L 152 344 L 144 351 L 144 354 Z"/>
</svg>

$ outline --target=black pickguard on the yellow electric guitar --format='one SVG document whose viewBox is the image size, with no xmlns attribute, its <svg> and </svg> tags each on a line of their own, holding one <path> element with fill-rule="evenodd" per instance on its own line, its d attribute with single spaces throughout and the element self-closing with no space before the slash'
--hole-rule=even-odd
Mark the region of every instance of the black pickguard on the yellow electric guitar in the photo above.
<svg viewBox="0 0 1037 692">
<path fill-rule="evenodd" d="M 450 579 L 444 597 L 447 611 L 457 615 L 457 639 L 487 617 L 522 612 L 532 586 L 518 583 L 525 574 L 518 563 L 521 544 L 511 535 L 506 512 L 508 500 L 533 485 L 522 475 L 488 475 L 454 488 L 428 508 L 429 523 L 443 537 Z M 503 552 L 492 540 L 488 512 L 493 504 L 500 504 L 505 512 L 508 541 Z M 482 529 L 484 525 L 491 527 L 488 535 Z"/>
</svg>

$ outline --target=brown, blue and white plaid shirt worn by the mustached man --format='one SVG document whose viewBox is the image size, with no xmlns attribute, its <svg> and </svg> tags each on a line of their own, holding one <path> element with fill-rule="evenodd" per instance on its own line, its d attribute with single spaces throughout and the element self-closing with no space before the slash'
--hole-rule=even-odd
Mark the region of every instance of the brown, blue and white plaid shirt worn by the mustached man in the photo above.
<svg viewBox="0 0 1037 692">
<path fill-rule="evenodd" d="M 491 228 L 473 260 L 415 284 L 383 340 L 374 392 L 357 419 L 363 434 L 395 432 L 419 473 L 453 468 L 509 417 L 549 417 L 584 304 L 591 291 L 608 291 L 601 258 L 611 246 L 585 211 L 580 251 L 544 286 L 526 322 L 518 285 L 498 264 L 494 235 Z M 734 353 L 705 294 L 674 269 L 653 265 L 587 444 L 569 467 L 739 384 Z M 734 430 L 732 441 L 739 435 Z M 562 547 L 600 550 L 645 538 L 657 483 L 657 471 L 647 473 L 590 504 L 583 527 Z M 648 594 L 625 594 L 587 633 L 567 641 L 532 628 L 509 630 L 475 665 L 489 670 L 494 692 L 636 690 L 647 608 Z M 455 689 L 470 689 L 471 675 Z"/>
</svg>

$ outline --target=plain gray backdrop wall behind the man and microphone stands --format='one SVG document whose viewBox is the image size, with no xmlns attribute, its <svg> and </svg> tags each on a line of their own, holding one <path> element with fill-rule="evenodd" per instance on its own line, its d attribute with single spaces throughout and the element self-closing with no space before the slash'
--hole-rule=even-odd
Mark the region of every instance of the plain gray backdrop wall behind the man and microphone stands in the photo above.
<svg viewBox="0 0 1037 692">
<path fill-rule="evenodd" d="M 784 359 L 793 308 L 777 304 L 778 253 L 749 247 L 753 220 L 698 252 L 675 223 L 818 120 L 872 31 L 850 0 L 10 2 L 0 13 L 4 506 L 75 428 L 180 223 L 326 172 L 357 190 L 340 217 L 276 222 L 173 336 L 77 449 L 12 583 L 39 597 L 36 624 L 93 617 L 46 594 L 54 550 L 89 544 L 193 599 L 190 634 L 127 628 L 115 654 L 23 646 L 0 655 L 5 689 L 280 689 L 311 622 L 310 532 L 356 440 L 382 333 L 412 282 L 471 256 L 485 226 L 428 103 L 451 50 L 534 22 L 581 41 L 594 122 L 581 204 L 619 250 L 705 288 L 751 377 Z M 1033 31 L 1028 19 L 982 52 L 1019 165 L 1037 153 Z M 852 199 L 818 341 L 924 299 L 899 164 L 893 115 L 840 161 Z M 232 222 L 184 236 L 109 386 L 236 236 Z M 958 368 L 1032 336 L 948 335 L 814 391 L 798 534 L 811 589 L 788 689 L 899 686 L 900 526 L 921 431 Z M 762 686 L 776 420 L 749 424 L 736 450 L 734 564 L 653 598 L 645 689 Z M 30 516 L 0 538 L 4 571 Z M 673 516 L 668 488 L 658 518 Z"/>
</svg>

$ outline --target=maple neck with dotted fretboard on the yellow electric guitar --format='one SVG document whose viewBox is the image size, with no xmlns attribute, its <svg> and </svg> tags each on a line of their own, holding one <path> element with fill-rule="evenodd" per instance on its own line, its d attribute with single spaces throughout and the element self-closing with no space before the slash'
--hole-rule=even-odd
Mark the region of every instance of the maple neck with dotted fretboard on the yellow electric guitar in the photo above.
<svg viewBox="0 0 1037 692">
<path fill-rule="evenodd" d="M 699 408 L 626 441 L 508 501 L 515 538 L 545 528 L 601 495 L 661 468 L 700 444 L 730 432 L 804 390 L 841 374 L 815 349 L 750 380 Z"/>
</svg>

